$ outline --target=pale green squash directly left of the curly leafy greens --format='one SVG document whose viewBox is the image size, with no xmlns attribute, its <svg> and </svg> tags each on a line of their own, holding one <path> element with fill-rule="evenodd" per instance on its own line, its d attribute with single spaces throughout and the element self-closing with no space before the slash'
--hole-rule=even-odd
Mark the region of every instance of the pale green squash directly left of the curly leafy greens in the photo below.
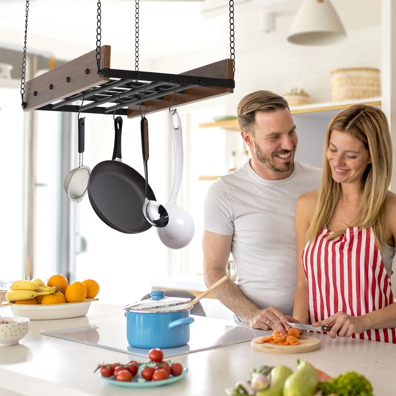
<svg viewBox="0 0 396 396">
<path fill-rule="evenodd" d="M 297 359 L 297 371 L 287 378 L 283 396 L 312 396 L 318 387 L 318 374 L 315 367 Z"/>
</svg>

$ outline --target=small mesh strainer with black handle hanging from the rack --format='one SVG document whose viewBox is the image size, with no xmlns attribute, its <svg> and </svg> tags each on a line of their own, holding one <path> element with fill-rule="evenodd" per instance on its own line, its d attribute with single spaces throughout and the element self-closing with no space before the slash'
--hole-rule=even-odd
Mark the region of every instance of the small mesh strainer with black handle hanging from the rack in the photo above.
<svg viewBox="0 0 396 396">
<path fill-rule="evenodd" d="M 80 153 L 80 163 L 78 168 L 72 169 L 65 177 L 63 188 L 70 201 L 80 202 L 87 193 L 88 179 L 91 169 L 82 164 L 84 156 L 84 135 L 85 117 L 78 119 L 78 152 Z"/>
</svg>

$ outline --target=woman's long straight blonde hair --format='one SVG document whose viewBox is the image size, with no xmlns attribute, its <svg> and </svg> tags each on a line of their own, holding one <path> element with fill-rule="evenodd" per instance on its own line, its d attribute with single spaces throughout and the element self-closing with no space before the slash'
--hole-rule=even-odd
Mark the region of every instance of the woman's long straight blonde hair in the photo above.
<svg viewBox="0 0 396 396">
<path fill-rule="evenodd" d="M 341 131 L 364 143 L 371 157 L 361 182 L 362 195 L 356 224 L 350 227 L 371 228 L 376 243 L 383 249 L 385 216 L 388 205 L 388 187 L 392 176 L 392 141 L 385 114 L 377 107 L 353 105 L 337 114 L 327 127 L 322 181 L 318 203 L 307 232 L 307 241 L 312 244 L 333 215 L 341 198 L 341 184 L 334 181 L 327 160 L 331 133 Z M 331 234 L 331 238 L 343 235 L 345 230 Z"/>
</svg>

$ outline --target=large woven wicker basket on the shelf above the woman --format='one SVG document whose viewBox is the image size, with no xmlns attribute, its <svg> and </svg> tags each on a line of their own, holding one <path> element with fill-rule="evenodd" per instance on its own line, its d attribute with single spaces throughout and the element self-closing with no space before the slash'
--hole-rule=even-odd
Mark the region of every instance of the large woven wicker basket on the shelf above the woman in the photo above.
<svg viewBox="0 0 396 396">
<path fill-rule="evenodd" d="M 331 98 L 333 101 L 381 96 L 379 69 L 352 67 L 331 72 Z"/>
</svg>

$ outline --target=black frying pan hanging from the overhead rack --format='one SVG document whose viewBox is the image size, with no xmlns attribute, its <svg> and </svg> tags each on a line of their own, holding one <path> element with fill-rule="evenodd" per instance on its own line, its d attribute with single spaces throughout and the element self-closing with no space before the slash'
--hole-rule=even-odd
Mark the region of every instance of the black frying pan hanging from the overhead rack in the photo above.
<svg viewBox="0 0 396 396">
<path fill-rule="evenodd" d="M 142 211 L 145 179 L 135 169 L 121 162 L 121 117 L 115 119 L 114 129 L 112 160 L 99 162 L 89 176 L 89 202 L 98 217 L 109 227 L 126 234 L 137 234 L 151 227 Z M 155 200 L 150 186 L 148 199 Z"/>
</svg>

